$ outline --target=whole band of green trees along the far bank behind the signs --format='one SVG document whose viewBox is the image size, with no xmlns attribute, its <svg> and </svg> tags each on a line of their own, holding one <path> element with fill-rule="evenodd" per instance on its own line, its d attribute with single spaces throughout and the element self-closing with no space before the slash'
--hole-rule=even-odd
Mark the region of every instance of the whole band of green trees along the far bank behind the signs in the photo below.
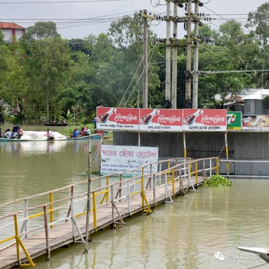
<svg viewBox="0 0 269 269">
<path fill-rule="evenodd" d="M 199 46 L 200 70 L 262 69 L 269 66 L 269 4 L 249 13 L 247 27 L 235 20 L 208 25 L 199 35 L 215 45 Z M 141 107 L 143 20 L 138 13 L 111 23 L 108 33 L 84 39 L 62 39 L 54 22 L 37 22 L 19 42 L 3 44 L 0 32 L 0 121 L 40 122 L 66 119 L 89 123 L 96 106 Z M 165 98 L 165 46 L 151 42 L 149 30 L 149 107 L 162 108 Z M 128 41 L 128 42 L 126 42 Z M 185 40 L 182 40 L 185 41 Z M 186 54 L 178 48 L 178 108 L 185 99 Z M 140 66 L 139 66 L 140 65 Z M 139 66 L 139 67 L 138 67 Z M 269 88 L 269 72 L 199 76 L 199 106 L 224 105 L 228 93 Z M 216 102 L 215 94 L 221 96 Z M 19 108 L 19 109 L 18 109 Z"/>
</svg>

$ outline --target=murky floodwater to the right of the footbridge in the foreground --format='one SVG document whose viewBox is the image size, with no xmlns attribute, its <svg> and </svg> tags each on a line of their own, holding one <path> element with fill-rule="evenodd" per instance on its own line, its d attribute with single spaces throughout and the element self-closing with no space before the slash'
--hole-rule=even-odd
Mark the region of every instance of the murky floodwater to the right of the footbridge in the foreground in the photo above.
<svg viewBox="0 0 269 269">
<path fill-rule="evenodd" d="M 89 253 L 72 246 L 51 254 L 50 268 L 237 268 L 264 261 L 216 260 L 237 246 L 267 247 L 269 181 L 235 180 L 235 187 L 201 188 L 158 205 L 150 216 L 125 219 L 120 229 L 91 235 Z M 46 268 L 45 257 L 36 260 Z"/>
</svg>

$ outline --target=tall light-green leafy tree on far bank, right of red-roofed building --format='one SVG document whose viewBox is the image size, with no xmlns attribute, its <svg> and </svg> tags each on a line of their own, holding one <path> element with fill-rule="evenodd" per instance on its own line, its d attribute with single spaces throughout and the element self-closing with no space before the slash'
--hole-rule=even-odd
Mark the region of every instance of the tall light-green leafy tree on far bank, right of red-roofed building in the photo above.
<svg viewBox="0 0 269 269">
<path fill-rule="evenodd" d="M 54 111 L 54 117 L 61 113 L 57 102 L 57 92 L 68 86 L 72 79 L 71 53 L 68 41 L 60 37 L 37 40 L 33 44 L 24 44 L 27 54 L 28 76 L 33 94 L 29 92 L 33 106 L 39 103 L 39 111 L 33 111 L 40 116 L 42 108 L 46 108 L 46 118 L 50 119 L 49 111 Z M 38 108 L 35 108 L 38 109 Z"/>
</svg>

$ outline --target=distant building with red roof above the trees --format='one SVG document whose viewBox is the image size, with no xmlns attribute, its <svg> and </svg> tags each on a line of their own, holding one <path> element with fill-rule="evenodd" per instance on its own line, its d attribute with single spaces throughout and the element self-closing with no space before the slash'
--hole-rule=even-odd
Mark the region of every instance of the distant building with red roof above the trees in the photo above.
<svg viewBox="0 0 269 269">
<path fill-rule="evenodd" d="M 25 28 L 14 22 L 0 22 L 0 29 L 6 43 L 18 41 L 25 32 Z"/>
</svg>

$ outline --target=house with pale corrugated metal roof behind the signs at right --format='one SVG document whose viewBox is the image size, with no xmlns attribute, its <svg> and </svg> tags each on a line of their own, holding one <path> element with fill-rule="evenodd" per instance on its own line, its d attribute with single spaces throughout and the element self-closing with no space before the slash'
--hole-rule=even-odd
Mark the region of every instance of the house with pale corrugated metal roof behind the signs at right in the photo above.
<svg viewBox="0 0 269 269">
<path fill-rule="evenodd" d="M 215 100 L 221 101 L 220 94 L 215 95 Z M 238 94 L 228 94 L 224 106 L 245 115 L 268 115 L 269 89 L 244 89 Z"/>
</svg>

